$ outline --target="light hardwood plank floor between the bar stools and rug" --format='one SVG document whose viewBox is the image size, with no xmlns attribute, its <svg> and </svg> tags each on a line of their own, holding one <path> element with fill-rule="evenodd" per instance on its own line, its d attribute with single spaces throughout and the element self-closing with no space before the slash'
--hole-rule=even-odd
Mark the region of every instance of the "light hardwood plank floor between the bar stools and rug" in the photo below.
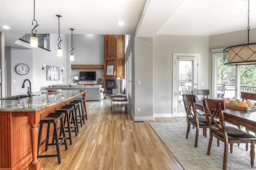
<svg viewBox="0 0 256 170">
<path fill-rule="evenodd" d="M 177 170 L 182 169 L 149 125 L 134 123 L 124 107 L 110 111 L 107 100 L 87 101 L 88 120 L 80 127 L 73 145 L 61 146 L 62 164 L 57 157 L 39 158 L 44 170 Z M 178 121 L 184 117 L 155 118 L 155 121 Z M 56 153 L 49 146 L 48 152 Z M 47 153 L 48 154 L 48 153 Z"/>
</svg>

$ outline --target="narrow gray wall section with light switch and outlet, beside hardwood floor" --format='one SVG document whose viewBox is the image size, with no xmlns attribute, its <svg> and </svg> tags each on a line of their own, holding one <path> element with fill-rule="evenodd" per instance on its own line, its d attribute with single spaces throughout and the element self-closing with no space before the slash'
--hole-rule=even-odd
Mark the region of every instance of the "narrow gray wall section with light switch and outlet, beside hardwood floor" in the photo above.
<svg viewBox="0 0 256 170">
<path fill-rule="evenodd" d="M 134 50 L 134 120 L 153 120 L 153 38 L 136 37 Z"/>
</svg>

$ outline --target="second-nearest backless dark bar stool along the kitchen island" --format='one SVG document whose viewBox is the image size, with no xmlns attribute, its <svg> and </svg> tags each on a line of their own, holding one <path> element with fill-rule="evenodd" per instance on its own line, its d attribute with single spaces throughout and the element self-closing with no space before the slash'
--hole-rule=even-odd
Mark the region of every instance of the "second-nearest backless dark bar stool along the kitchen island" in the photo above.
<svg viewBox="0 0 256 170">
<path fill-rule="evenodd" d="M 75 132 L 76 136 L 77 136 L 74 106 L 69 106 L 69 105 L 62 106 L 60 109 L 55 110 L 55 113 L 65 113 L 65 115 L 64 115 L 64 129 L 67 129 L 67 130 L 65 130 L 65 132 L 68 132 L 68 136 L 69 136 L 69 137 L 66 137 L 66 139 L 69 139 L 70 145 L 72 145 L 71 132 Z M 71 122 L 70 122 L 70 118 L 72 120 Z M 74 123 L 74 125 L 72 127 L 70 127 L 71 123 Z M 61 137 L 61 131 L 60 131 L 60 137 Z M 60 137 L 59 137 L 59 139 L 61 139 Z"/>
</svg>

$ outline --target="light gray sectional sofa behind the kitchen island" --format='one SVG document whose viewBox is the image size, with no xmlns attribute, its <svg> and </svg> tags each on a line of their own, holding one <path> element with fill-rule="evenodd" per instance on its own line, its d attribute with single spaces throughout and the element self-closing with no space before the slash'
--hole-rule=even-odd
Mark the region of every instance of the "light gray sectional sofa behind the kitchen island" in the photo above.
<svg viewBox="0 0 256 170">
<path fill-rule="evenodd" d="M 86 100 L 87 101 L 93 101 L 93 100 L 102 100 L 104 98 L 105 94 L 104 88 L 101 87 L 101 85 L 82 85 L 82 84 L 53 84 L 49 85 L 45 88 L 45 90 L 86 90 Z"/>
</svg>

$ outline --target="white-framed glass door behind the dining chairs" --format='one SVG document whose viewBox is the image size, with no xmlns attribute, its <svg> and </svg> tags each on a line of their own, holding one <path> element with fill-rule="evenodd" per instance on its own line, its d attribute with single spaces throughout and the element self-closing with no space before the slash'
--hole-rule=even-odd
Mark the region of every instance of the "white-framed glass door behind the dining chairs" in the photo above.
<svg viewBox="0 0 256 170">
<path fill-rule="evenodd" d="M 173 116 L 186 116 L 182 94 L 198 89 L 198 62 L 200 54 L 173 54 Z"/>
</svg>

